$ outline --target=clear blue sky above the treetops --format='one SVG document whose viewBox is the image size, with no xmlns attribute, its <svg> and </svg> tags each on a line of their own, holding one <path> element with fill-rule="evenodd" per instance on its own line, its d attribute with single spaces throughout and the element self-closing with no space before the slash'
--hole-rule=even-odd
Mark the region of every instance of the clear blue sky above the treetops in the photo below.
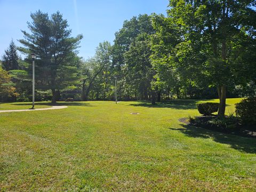
<svg viewBox="0 0 256 192">
<path fill-rule="evenodd" d="M 49 14 L 60 11 L 68 20 L 73 36 L 83 34 L 79 56 L 92 57 L 100 42 L 113 42 L 124 20 L 135 15 L 163 13 L 168 0 L 0 0 L 0 56 L 11 39 L 19 46 L 22 30 L 27 30 L 30 13 L 40 9 Z"/>
</svg>

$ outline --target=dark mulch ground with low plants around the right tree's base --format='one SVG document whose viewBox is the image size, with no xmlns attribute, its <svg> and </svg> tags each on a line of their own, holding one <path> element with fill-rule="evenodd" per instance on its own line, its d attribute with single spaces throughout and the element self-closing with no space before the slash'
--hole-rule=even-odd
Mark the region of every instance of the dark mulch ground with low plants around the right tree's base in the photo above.
<svg viewBox="0 0 256 192">
<path fill-rule="evenodd" d="M 226 134 L 234 134 L 241 137 L 250 137 L 256 138 L 256 125 L 241 125 L 240 123 L 234 124 L 232 128 L 230 127 L 220 127 L 215 124 L 209 123 L 209 121 L 213 118 L 217 118 L 216 116 L 196 116 L 197 121 L 190 123 L 189 118 L 180 118 L 179 122 L 185 123 L 187 125 L 193 125 L 196 127 L 201 127 L 206 130 L 226 133 Z"/>
</svg>

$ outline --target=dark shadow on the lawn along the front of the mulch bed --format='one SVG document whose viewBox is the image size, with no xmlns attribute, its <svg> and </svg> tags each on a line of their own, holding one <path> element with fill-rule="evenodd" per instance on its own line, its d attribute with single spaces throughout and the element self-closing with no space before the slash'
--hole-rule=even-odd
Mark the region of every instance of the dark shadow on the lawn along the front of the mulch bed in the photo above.
<svg viewBox="0 0 256 192">
<path fill-rule="evenodd" d="M 220 132 L 214 132 L 210 130 L 206 130 L 203 128 L 191 126 L 191 125 L 183 125 L 183 128 L 175 129 L 169 128 L 170 130 L 180 131 L 183 134 L 186 134 L 188 137 L 193 138 L 212 138 L 215 142 L 224 143 L 230 145 L 231 148 L 244 151 L 246 153 L 256 153 L 256 139 L 254 138 L 245 138 L 239 137 L 236 135 L 225 134 Z"/>
</svg>

